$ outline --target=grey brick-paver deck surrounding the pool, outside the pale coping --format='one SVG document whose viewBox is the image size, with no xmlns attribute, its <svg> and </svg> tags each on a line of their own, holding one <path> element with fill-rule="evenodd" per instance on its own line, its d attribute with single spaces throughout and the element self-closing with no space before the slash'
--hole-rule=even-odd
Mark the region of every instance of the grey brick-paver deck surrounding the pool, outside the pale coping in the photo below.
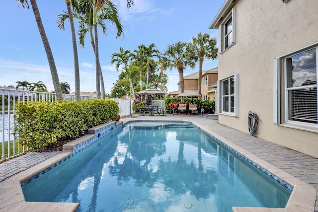
<svg viewBox="0 0 318 212">
<path fill-rule="evenodd" d="M 217 120 L 206 119 L 207 115 L 175 115 L 166 116 L 139 116 L 136 118 L 121 119 L 124 123 L 131 120 L 175 120 L 191 121 L 199 123 L 207 130 L 215 132 L 221 137 L 232 141 L 239 147 L 255 154 L 259 158 L 273 164 L 283 171 L 295 176 L 299 180 L 309 183 L 318 189 L 318 158 L 288 149 L 281 145 L 250 136 L 248 133 L 220 125 Z M 247 122 L 246 122 L 247 129 Z M 14 176 L 15 174 L 47 160 L 59 154 L 59 152 L 27 153 L 23 156 L 0 163 L 0 182 Z M 318 198 L 316 197 L 315 212 L 318 212 Z"/>
</svg>

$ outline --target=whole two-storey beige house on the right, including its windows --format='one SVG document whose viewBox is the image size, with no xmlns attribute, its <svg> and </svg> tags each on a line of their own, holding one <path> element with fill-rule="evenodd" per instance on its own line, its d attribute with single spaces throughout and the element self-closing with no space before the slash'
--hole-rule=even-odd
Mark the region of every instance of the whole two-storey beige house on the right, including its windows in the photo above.
<svg viewBox="0 0 318 212">
<path fill-rule="evenodd" d="M 219 29 L 219 123 L 318 158 L 318 1 L 225 0 Z"/>
</svg>

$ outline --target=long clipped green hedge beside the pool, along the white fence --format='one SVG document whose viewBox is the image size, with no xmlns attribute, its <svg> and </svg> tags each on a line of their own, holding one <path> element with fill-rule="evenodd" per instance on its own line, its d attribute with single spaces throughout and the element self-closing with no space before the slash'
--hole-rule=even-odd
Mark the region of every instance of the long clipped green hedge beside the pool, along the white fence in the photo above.
<svg viewBox="0 0 318 212">
<path fill-rule="evenodd" d="M 30 149 L 79 137 L 89 128 L 116 119 L 118 103 L 111 99 L 30 101 L 16 105 L 13 133 Z"/>
</svg>

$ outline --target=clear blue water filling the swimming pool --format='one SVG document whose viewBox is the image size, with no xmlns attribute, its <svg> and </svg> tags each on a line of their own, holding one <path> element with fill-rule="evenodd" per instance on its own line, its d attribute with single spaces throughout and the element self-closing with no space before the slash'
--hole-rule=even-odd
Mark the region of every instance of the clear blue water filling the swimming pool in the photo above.
<svg viewBox="0 0 318 212">
<path fill-rule="evenodd" d="M 231 212 L 291 191 L 189 124 L 131 123 L 24 184 L 26 201 L 79 212 Z"/>
</svg>

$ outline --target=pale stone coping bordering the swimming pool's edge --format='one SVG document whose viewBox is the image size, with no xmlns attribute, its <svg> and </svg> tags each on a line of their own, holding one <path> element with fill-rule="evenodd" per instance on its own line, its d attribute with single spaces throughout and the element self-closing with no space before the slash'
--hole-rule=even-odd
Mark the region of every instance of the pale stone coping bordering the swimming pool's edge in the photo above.
<svg viewBox="0 0 318 212">
<path fill-rule="evenodd" d="M 122 126 L 129 122 L 145 122 L 144 121 L 125 121 L 125 122 L 108 122 L 97 127 L 91 128 L 88 131 L 88 135 L 85 135 L 77 140 L 71 141 L 63 146 L 63 151 L 57 155 L 23 171 L 20 172 L 2 182 L 0 182 L 0 211 L 46 211 L 46 212 L 76 212 L 79 208 L 79 203 L 42 203 L 42 202 L 26 202 L 24 199 L 21 183 L 30 179 L 34 175 L 42 172 L 43 170 L 53 166 L 59 161 L 70 157 L 74 153 L 75 146 L 80 143 L 97 136 L 98 130 L 105 128 L 108 125 Z M 153 121 L 154 122 L 154 121 Z M 156 122 L 156 121 L 155 121 Z M 158 122 L 158 121 L 157 121 Z M 183 121 L 183 120 L 165 120 L 163 122 L 187 122 L 192 123 L 199 129 L 205 131 L 211 136 L 217 138 L 219 141 L 235 149 L 241 155 L 249 158 L 254 163 L 258 164 L 262 168 L 271 172 L 281 180 L 285 181 L 289 185 L 293 186 L 293 191 L 287 202 L 285 208 L 249 208 L 249 207 L 233 207 L 233 212 L 314 212 L 317 190 L 310 184 L 297 179 L 296 177 L 288 174 L 287 172 L 277 168 L 273 164 L 259 158 L 251 152 L 241 148 L 233 142 L 221 137 L 217 133 L 205 128 L 201 124 L 195 121 Z M 99 135 L 98 135 L 99 136 Z"/>
</svg>

